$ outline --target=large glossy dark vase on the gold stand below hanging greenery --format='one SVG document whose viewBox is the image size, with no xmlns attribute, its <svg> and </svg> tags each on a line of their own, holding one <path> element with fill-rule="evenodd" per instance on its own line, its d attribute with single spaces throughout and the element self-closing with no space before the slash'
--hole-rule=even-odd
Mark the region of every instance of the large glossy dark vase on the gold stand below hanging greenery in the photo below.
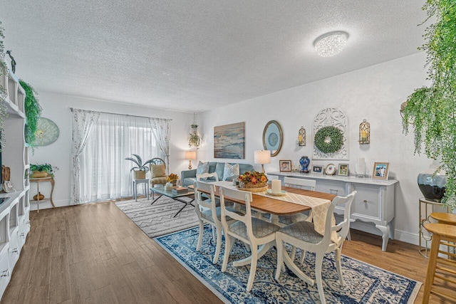
<svg viewBox="0 0 456 304">
<path fill-rule="evenodd" d="M 434 173 L 435 169 L 437 167 L 432 165 L 429 169 L 418 174 L 418 187 L 420 187 L 425 199 L 440 202 L 440 199 L 445 195 L 448 176 L 444 170 Z"/>
</svg>

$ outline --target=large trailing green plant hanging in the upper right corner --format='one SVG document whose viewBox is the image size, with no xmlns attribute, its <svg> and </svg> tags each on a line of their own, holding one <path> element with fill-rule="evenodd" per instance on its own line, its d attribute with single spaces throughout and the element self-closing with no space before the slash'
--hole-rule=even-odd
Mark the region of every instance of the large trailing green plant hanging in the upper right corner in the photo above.
<svg viewBox="0 0 456 304">
<path fill-rule="evenodd" d="M 442 162 L 437 169 L 448 174 L 442 203 L 456 208 L 456 1 L 427 0 L 423 10 L 427 20 L 435 18 L 425 30 L 428 87 L 418 88 L 401 110 L 403 130 L 413 126 L 415 153 L 424 147 L 427 157 Z M 426 21 L 427 21 L 426 20 Z"/>
</svg>

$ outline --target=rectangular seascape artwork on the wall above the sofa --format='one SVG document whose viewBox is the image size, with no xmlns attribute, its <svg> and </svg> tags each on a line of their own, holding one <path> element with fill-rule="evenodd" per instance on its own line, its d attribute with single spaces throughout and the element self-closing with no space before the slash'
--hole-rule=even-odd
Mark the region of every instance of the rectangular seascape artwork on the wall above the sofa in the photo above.
<svg viewBox="0 0 456 304">
<path fill-rule="evenodd" d="M 214 158 L 244 159 L 245 122 L 214 127 Z"/>
</svg>

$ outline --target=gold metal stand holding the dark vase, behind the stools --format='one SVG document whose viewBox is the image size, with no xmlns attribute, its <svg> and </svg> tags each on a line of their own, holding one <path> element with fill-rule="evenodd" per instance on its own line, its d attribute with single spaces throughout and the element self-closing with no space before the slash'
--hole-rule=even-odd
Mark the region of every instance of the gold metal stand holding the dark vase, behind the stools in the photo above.
<svg viewBox="0 0 456 304">
<path fill-rule="evenodd" d="M 420 198 L 420 225 L 418 226 L 418 238 L 419 238 L 419 246 L 420 246 L 420 253 L 425 258 L 429 257 L 429 248 L 430 242 L 432 240 L 432 235 L 424 229 L 424 225 L 426 223 L 430 223 L 432 212 L 436 212 L 435 209 L 438 207 L 440 212 L 446 210 L 446 213 L 450 212 L 450 207 L 445 206 L 444 204 L 437 202 L 437 201 L 430 201 L 425 199 L 424 197 Z M 433 220 L 433 222 L 435 222 Z"/>
</svg>

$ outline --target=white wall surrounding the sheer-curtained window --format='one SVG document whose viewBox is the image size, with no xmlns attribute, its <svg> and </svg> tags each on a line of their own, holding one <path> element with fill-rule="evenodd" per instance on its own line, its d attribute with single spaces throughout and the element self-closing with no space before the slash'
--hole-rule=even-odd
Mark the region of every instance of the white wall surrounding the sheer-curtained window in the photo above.
<svg viewBox="0 0 456 304">
<path fill-rule="evenodd" d="M 38 99 L 43 107 L 42 116 L 53 120 L 58 125 L 60 136 L 53 144 L 37 147 L 31 155 L 31 164 L 49 163 L 59 168 L 55 172 L 56 186 L 53 193 L 53 201 L 56 206 L 68 206 L 70 203 L 70 176 L 71 176 L 71 121 L 72 115 L 70 107 L 84 110 L 96 110 L 103 112 L 113 112 L 119 114 L 140 115 L 148 117 L 170 118 L 171 122 L 171 147 L 170 147 L 170 173 L 180 175 L 180 172 L 187 169 L 188 161 L 184 159 L 184 151 L 188 150 L 188 136 L 193 115 L 156 110 L 152 108 L 135 107 L 120 103 L 108 103 L 103 100 L 93 100 L 88 98 L 78 98 L 75 96 L 62 95 L 57 93 L 38 92 Z M 149 158 L 155 155 L 149 155 Z M 147 159 L 149 159 L 147 158 Z M 36 194 L 36 184 L 31 184 L 31 195 Z M 47 183 L 40 184 L 42 194 L 49 193 Z M 50 202 L 40 204 L 40 209 L 51 208 Z M 31 204 L 31 209 L 36 209 L 36 204 Z"/>
</svg>

